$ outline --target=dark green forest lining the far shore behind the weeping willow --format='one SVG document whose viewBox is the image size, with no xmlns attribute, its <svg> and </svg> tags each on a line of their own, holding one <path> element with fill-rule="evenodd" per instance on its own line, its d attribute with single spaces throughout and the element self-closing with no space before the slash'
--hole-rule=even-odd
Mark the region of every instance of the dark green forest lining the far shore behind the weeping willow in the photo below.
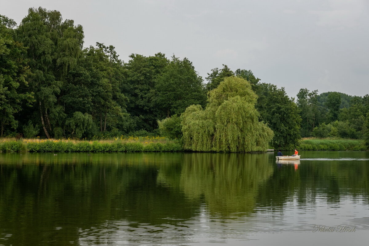
<svg viewBox="0 0 369 246">
<path fill-rule="evenodd" d="M 309 136 L 369 139 L 369 94 L 302 88 L 290 98 L 283 87 L 259 83 L 251 70 L 227 65 L 212 69 L 205 82 L 187 58 L 132 54 L 124 62 L 114 46 L 84 47 L 83 38 L 82 26 L 63 21 L 59 11 L 30 8 L 19 25 L 0 15 L 1 137 L 181 138 L 186 108 L 216 108 L 211 95 L 234 77 L 249 82 L 250 112 L 257 110 L 252 122 L 273 130 L 272 146 L 295 146 Z"/>
</svg>

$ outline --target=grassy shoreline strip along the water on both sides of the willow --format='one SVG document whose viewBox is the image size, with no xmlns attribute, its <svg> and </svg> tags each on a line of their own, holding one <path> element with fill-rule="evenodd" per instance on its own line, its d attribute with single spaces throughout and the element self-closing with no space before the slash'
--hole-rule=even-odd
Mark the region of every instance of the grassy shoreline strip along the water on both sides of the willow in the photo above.
<svg viewBox="0 0 369 246">
<path fill-rule="evenodd" d="M 360 139 L 301 139 L 301 151 L 368 151 Z M 276 150 L 275 150 L 276 151 Z M 284 149 L 286 151 L 286 149 Z M 183 149 L 179 140 L 163 137 L 135 137 L 114 140 L 72 139 L 6 139 L 0 142 L 0 152 L 197 152 Z M 268 152 L 268 150 L 265 150 Z M 272 152 L 272 151 L 269 151 Z M 230 152 L 225 152 L 230 153 Z"/>
</svg>

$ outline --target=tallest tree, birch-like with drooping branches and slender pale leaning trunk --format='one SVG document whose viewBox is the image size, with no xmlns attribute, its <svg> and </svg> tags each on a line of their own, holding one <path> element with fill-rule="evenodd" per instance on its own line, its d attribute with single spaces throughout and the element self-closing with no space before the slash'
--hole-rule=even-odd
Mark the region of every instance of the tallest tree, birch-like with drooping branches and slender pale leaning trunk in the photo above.
<svg viewBox="0 0 369 246">
<path fill-rule="evenodd" d="M 66 115 L 58 104 L 61 87 L 81 54 L 83 28 L 73 20 L 62 21 L 59 11 L 30 8 L 17 29 L 18 40 L 28 47 L 32 87 L 47 138 Z"/>
</svg>

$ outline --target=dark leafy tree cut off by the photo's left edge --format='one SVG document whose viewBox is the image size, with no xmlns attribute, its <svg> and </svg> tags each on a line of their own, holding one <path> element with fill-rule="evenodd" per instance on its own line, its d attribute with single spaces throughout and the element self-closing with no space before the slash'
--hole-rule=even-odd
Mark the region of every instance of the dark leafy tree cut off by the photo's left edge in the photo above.
<svg viewBox="0 0 369 246">
<path fill-rule="evenodd" d="M 30 106 L 33 93 L 24 90 L 28 87 L 31 71 L 26 59 L 26 48 L 14 40 L 15 22 L 0 15 L 0 125 L 1 137 L 4 127 L 18 126 L 14 115 L 24 106 Z M 24 88 L 20 91 L 20 88 Z"/>
</svg>

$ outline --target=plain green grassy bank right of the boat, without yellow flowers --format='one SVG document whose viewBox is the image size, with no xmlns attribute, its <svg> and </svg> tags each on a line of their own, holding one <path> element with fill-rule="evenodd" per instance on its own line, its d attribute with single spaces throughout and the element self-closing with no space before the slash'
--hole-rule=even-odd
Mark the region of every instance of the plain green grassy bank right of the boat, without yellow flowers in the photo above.
<svg viewBox="0 0 369 246">
<path fill-rule="evenodd" d="M 360 139 L 303 138 L 299 150 L 368 150 Z"/>
</svg>

